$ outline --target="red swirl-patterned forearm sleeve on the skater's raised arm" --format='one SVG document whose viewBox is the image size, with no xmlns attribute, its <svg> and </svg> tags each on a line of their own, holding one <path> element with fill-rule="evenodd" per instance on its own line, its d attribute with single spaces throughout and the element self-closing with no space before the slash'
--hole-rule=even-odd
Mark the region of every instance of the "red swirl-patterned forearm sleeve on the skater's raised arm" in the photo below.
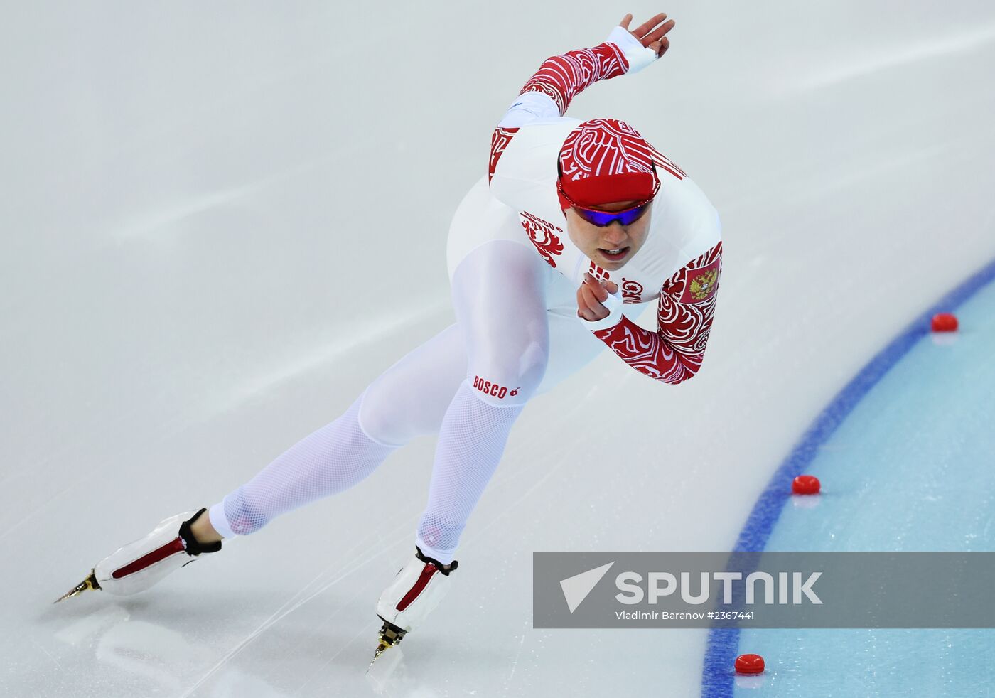
<svg viewBox="0 0 995 698">
<path fill-rule="evenodd" d="M 593 49 L 579 49 L 547 58 L 518 94 L 539 92 L 548 95 L 563 116 L 579 92 L 599 80 L 625 75 L 627 70 L 629 63 L 621 49 L 606 42 Z"/>
</svg>

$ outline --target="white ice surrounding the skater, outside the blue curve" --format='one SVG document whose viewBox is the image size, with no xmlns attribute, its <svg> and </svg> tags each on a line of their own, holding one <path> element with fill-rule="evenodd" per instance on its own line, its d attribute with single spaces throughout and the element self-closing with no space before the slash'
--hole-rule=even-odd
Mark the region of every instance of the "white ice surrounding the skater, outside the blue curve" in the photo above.
<svg viewBox="0 0 995 698">
<path fill-rule="evenodd" d="M 839 387 L 995 257 L 992 3 L 3 3 L 0 695 L 373 694 L 431 439 L 152 592 L 51 602 L 451 323 L 497 119 L 659 10 L 664 60 L 570 116 L 718 208 L 702 371 L 606 354 L 526 408 L 386 694 L 697 696 L 704 630 L 532 629 L 532 551 L 729 550 Z"/>
</svg>

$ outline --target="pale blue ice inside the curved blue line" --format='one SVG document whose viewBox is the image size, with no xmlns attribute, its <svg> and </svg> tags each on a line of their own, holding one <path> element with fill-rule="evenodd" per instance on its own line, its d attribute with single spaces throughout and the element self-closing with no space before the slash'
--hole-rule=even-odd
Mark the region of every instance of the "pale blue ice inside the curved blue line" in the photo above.
<svg viewBox="0 0 995 698">
<path fill-rule="evenodd" d="M 820 446 L 806 472 L 822 493 L 791 497 L 767 550 L 995 551 L 995 283 L 957 317 Z M 767 670 L 762 693 L 734 695 L 984 698 L 995 684 L 992 629 L 754 629 L 739 648 Z"/>
</svg>

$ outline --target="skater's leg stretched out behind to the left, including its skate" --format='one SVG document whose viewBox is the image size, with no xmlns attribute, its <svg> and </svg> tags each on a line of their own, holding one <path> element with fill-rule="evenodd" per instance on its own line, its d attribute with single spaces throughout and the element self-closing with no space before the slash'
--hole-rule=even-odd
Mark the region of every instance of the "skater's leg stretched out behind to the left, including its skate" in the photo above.
<svg viewBox="0 0 995 698">
<path fill-rule="evenodd" d="M 212 507 L 210 516 L 202 510 L 164 520 L 101 560 L 63 598 L 88 588 L 144 590 L 201 554 L 220 550 L 222 537 L 258 531 L 279 514 L 351 487 L 399 445 L 438 431 L 465 366 L 461 334 L 455 327 L 444 330 L 387 369 L 338 419 Z"/>
</svg>

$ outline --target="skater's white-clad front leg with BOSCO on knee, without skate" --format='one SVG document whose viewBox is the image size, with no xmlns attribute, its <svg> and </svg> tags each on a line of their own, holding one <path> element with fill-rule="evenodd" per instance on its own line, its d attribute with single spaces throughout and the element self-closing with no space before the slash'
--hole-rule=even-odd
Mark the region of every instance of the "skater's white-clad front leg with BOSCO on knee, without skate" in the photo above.
<svg viewBox="0 0 995 698">
<path fill-rule="evenodd" d="M 511 425 L 545 373 L 549 267 L 525 245 L 497 240 L 471 252 L 453 276 L 467 379 L 443 417 L 428 506 L 416 544 L 442 564 L 490 482 Z"/>
</svg>

